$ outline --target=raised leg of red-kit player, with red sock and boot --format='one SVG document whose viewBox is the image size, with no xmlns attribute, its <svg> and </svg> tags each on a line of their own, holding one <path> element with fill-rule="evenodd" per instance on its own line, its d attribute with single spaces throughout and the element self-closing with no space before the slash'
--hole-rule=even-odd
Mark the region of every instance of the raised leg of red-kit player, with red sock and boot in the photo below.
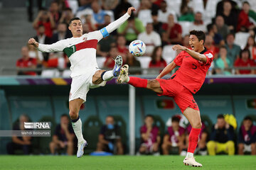
<svg viewBox="0 0 256 170">
<path fill-rule="evenodd" d="M 131 84 L 134 87 L 140 87 L 145 89 L 150 89 L 151 91 L 156 92 L 157 94 L 162 94 L 163 90 L 161 89 L 159 81 L 156 79 L 141 79 L 139 77 L 128 77 L 129 66 L 125 64 L 121 70 L 119 77 L 117 79 L 118 83 L 127 83 Z"/>
</svg>

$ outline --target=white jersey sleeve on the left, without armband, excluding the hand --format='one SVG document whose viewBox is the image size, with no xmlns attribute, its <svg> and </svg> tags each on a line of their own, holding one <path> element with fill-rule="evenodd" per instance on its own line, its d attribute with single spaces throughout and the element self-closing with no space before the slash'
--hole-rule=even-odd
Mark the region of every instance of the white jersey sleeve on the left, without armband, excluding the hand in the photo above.
<svg viewBox="0 0 256 170">
<path fill-rule="evenodd" d="M 65 48 L 65 40 L 60 40 L 51 45 L 38 44 L 38 50 L 41 52 L 61 52 Z"/>
</svg>

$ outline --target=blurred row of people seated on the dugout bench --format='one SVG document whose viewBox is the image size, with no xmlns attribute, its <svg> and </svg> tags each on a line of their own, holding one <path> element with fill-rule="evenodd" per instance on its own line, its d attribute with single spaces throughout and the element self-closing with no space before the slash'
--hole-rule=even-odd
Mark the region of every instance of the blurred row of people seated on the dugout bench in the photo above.
<svg viewBox="0 0 256 170">
<path fill-rule="evenodd" d="M 118 123 L 118 118 L 108 115 L 104 125 L 87 126 L 84 124 L 85 139 L 91 147 L 85 148 L 87 153 L 92 155 L 112 155 L 126 154 L 127 140 L 124 124 Z M 95 118 L 93 122 L 95 123 Z M 24 130 L 24 122 L 28 122 L 27 115 L 21 115 L 14 123 L 14 130 Z M 215 154 L 256 154 L 256 125 L 255 116 L 247 115 L 242 122 L 237 125 L 233 115 L 218 115 L 215 123 L 209 119 L 202 121 L 202 130 L 199 135 L 198 145 L 195 154 L 215 155 Z M 93 124 L 92 122 L 90 124 Z M 239 128 L 238 128 L 239 127 Z M 146 115 L 144 125 L 139 129 L 140 138 L 137 142 L 137 155 L 140 154 L 180 154 L 186 155 L 188 149 L 188 135 L 191 132 L 191 125 L 183 115 L 174 115 L 164 123 L 157 115 Z M 99 134 L 97 134 L 99 132 Z M 12 137 L 12 141 L 6 146 L 9 154 L 35 154 L 33 137 Z M 67 154 L 73 155 L 76 151 L 75 134 L 73 132 L 68 115 L 61 115 L 60 124 L 55 126 L 52 138 L 48 142 L 43 142 L 46 150 L 41 150 L 41 154 L 49 153 L 53 155 Z M 19 151 L 19 152 L 18 152 Z M 38 154 L 38 153 L 37 153 Z"/>
</svg>

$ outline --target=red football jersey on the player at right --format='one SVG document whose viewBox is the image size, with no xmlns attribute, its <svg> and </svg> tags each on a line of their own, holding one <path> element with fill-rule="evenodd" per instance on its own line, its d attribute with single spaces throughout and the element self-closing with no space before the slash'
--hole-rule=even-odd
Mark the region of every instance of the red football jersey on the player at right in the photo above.
<svg viewBox="0 0 256 170">
<path fill-rule="evenodd" d="M 206 73 L 211 62 L 213 62 L 212 51 L 206 50 L 205 48 L 201 54 L 206 56 L 206 63 L 194 59 L 185 51 L 179 53 L 174 59 L 175 64 L 180 66 L 180 68 L 174 74 L 173 79 L 185 86 L 193 94 L 196 94 L 203 85 L 206 79 Z"/>
</svg>

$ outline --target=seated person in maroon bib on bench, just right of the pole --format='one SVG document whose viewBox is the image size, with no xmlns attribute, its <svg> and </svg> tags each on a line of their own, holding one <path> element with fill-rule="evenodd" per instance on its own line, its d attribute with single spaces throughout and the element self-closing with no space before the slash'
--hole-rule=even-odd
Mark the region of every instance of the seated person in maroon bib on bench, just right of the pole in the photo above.
<svg viewBox="0 0 256 170">
<path fill-rule="evenodd" d="M 142 144 L 139 147 L 140 154 L 152 154 L 159 152 L 161 138 L 159 128 L 154 125 L 153 115 L 146 115 L 144 125 L 140 128 Z"/>
</svg>

